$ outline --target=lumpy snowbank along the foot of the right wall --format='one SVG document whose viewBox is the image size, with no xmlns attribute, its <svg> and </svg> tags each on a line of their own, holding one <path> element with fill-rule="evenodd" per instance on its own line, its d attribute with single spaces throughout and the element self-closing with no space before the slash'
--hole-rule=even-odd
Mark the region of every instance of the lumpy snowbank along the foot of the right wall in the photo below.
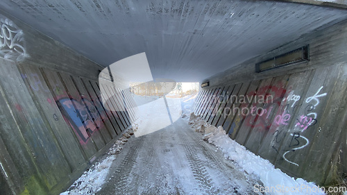
<svg viewBox="0 0 347 195">
<path fill-rule="evenodd" d="M 203 133 L 203 139 L 217 146 L 226 158 L 239 164 L 247 173 L 258 176 L 264 184 L 263 192 L 267 194 L 324 194 L 314 183 L 308 183 L 302 178 L 295 180 L 280 169 L 276 169 L 269 160 L 248 151 L 244 146 L 230 139 L 223 127 L 213 126 L 212 128 L 194 113 L 189 117 L 189 124 L 196 131 Z"/>
</svg>

